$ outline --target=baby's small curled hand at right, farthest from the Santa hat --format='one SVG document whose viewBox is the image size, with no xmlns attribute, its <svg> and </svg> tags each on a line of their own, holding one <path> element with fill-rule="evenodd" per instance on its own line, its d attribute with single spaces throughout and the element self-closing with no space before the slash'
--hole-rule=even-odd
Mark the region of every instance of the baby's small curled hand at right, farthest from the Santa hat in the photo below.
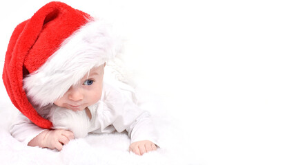
<svg viewBox="0 0 294 165">
<path fill-rule="evenodd" d="M 149 151 L 155 151 L 157 147 L 153 142 L 150 142 L 149 140 L 143 140 L 139 142 L 133 142 L 130 144 L 129 150 L 137 155 L 143 155 L 144 153 L 147 153 Z"/>
</svg>

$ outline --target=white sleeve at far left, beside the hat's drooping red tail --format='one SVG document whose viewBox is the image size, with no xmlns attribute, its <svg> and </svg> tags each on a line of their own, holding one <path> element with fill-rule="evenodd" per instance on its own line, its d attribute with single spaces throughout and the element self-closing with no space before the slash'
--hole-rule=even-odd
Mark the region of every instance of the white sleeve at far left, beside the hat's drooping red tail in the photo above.
<svg viewBox="0 0 294 165">
<path fill-rule="evenodd" d="M 19 114 L 14 118 L 14 122 L 10 126 L 11 135 L 28 145 L 30 140 L 39 135 L 42 131 L 46 129 L 41 129 L 39 126 L 33 124 L 25 115 L 19 112 Z"/>
</svg>

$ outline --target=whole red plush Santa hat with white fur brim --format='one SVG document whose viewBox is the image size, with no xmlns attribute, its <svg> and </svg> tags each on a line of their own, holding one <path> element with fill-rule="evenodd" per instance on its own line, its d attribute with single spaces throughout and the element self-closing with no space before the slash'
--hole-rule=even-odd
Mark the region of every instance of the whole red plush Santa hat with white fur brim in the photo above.
<svg viewBox="0 0 294 165">
<path fill-rule="evenodd" d="M 50 2 L 14 29 L 3 69 L 10 100 L 38 126 L 50 129 L 36 107 L 52 104 L 87 72 L 115 56 L 104 21 L 61 2 Z"/>
</svg>

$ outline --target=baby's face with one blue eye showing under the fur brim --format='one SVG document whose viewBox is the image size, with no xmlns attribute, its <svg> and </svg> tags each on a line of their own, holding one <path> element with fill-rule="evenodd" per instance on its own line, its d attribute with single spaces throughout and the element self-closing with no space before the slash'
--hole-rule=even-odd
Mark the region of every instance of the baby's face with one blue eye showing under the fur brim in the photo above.
<svg viewBox="0 0 294 165">
<path fill-rule="evenodd" d="M 70 87 L 54 104 L 72 111 L 81 111 L 98 102 L 102 94 L 104 66 L 105 64 L 92 68 L 89 74 L 81 78 L 80 84 Z"/>
</svg>

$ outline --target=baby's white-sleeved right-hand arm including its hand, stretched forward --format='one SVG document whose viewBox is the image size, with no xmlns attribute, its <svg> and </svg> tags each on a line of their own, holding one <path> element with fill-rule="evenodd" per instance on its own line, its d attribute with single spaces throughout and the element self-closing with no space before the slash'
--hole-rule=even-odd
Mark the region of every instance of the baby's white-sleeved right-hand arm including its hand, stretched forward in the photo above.
<svg viewBox="0 0 294 165">
<path fill-rule="evenodd" d="M 157 131 L 150 113 L 138 107 L 133 89 L 128 89 L 127 86 L 120 86 L 123 90 L 119 90 L 104 83 L 106 99 L 101 102 L 104 111 L 98 115 L 100 118 L 108 116 L 108 118 L 101 118 L 104 125 L 112 124 L 118 132 L 126 130 L 130 137 L 129 150 L 137 155 L 143 155 L 157 149 Z"/>
</svg>

